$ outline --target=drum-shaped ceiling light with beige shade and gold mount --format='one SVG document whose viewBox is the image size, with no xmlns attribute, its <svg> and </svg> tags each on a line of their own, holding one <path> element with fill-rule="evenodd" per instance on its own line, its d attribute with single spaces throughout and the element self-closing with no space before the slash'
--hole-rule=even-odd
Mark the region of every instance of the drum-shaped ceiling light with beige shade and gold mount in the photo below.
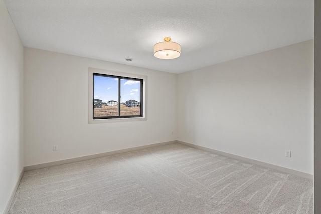
<svg viewBox="0 0 321 214">
<path fill-rule="evenodd" d="M 164 38 L 165 42 L 154 45 L 154 56 L 159 59 L 175 59 L 181 56 L 181 46 L 176 42 L 170 42 L 170 37 Z"/>
</svg>

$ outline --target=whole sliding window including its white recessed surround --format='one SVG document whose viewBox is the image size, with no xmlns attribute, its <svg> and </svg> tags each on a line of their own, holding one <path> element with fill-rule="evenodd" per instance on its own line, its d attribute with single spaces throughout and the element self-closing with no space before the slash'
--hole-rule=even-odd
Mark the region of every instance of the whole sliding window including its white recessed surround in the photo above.
<svg viewBox="0 0 321 214">
<path fill-rule="evenodd" d="M 89 69 L 89 123 L 146 120 L 146 76 Z"/>
</svg>

